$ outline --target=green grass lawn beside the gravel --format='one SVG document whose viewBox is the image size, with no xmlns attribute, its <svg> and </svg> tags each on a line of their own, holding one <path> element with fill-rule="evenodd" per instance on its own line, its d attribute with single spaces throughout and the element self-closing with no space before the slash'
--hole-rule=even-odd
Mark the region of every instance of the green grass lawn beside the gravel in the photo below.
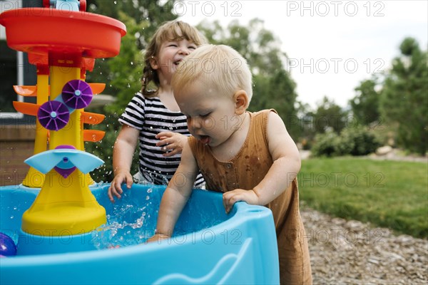
<svg viewBox="0 0 428 285">
<path fill-rule="evenodd" d="M 320 212 L 428 238 L 428 165 L 424 162 L 302 160 L 300 200 Z"/>
</svg>

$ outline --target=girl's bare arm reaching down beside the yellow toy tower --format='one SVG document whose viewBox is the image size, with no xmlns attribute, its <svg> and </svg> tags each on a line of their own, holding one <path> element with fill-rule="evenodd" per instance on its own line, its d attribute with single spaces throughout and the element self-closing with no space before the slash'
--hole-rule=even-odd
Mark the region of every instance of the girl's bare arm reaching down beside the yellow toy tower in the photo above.
<svg viewBox="0 0 428 285">
<path fill-rule="evenodd" d="M 126 187 L 133 184 L 131 165 L 133 153 L 136 150 L 140 131 L 129 125 L 123 125 L 113 147 L 113 172 L 114 178 L 108 188 L 108 198 L 114 202 L 114 196 L 121 198 L 123 192 L 121 184 L 126 182 Z"/>
</svg>

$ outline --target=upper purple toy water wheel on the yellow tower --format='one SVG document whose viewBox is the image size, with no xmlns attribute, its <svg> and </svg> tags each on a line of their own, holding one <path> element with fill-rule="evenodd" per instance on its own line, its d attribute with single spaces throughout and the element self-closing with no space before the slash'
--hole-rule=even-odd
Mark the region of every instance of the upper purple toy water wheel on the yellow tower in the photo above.
<svg viewBox="0 0 428 285">
<path fill-rule="evenodd" d="M 78 79 L 68 81 L 64 85 L 61 95 L 64 103 L 73 109 L 85 108 L 92 100 L 91 86 Z"/>
</svg>

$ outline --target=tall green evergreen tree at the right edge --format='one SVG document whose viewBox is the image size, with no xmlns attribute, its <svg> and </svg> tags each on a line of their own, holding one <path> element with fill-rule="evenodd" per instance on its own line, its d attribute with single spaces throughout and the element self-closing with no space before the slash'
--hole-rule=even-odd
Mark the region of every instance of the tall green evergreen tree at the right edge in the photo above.
<svg viewBox="0 0 428 285">
<path fill-rule="evenodd" d="M 427 51 L 414 38 L 405 38 L 392 61 L 382 90 L 384 118 L 397 125 L 397 145 L 424 155 L 428 145 Z"/>
</svg>

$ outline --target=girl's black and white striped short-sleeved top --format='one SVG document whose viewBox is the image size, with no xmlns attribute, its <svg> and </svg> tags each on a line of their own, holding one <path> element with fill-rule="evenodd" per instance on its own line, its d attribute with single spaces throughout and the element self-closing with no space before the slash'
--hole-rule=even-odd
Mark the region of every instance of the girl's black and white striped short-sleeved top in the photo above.
<svg viewBox="0 0 428 285">
<path fill-rule="evenodd" d="M 162 131 L 171 131 L 189 136 L 187 120 L 180 112 L 172 112 L 163 105 L 158 97 L 145 98 L 137 93 L 128 103 L 119 122 L 140 130 L 140 165 L 143 177 L 156 185 L 165 185 L 173 177 L 180 164 L 181 154 L 164 157 L 159 140 L 155 135 Z M 195 187 L 203 185 L 203 177 L 198 175 Z"/>
</svg>

